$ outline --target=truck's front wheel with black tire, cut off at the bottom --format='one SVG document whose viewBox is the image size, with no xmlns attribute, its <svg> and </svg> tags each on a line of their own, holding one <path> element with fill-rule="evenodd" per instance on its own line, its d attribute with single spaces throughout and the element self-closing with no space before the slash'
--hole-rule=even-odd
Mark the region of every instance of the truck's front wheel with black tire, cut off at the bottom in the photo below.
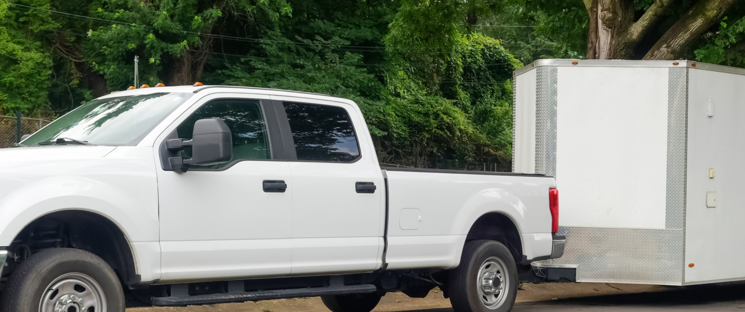
<svg viewBox="0 0 745 312">
<path fill-rule="evenodd" d="M 77 305 L 72 296 L 78 296 L 83 305 Z M 93 305 L 93 312 L 124 312 L 124 292 L 114 270 L 98 256 L 71 248 L 41 250 L 23 261 L 4 287 L 0 311 L 45 312 L 40 308 L 42 304 L 54 305 L 71 298 L 66 301 L 67 305 L 75 305 L 75 308 L 65 308 L 64 311 L 84 312 L 83 309 L 88 309 L 90 312 L 87 305 L 98 302 L 91 298 L 102 298 L 98 306 Z"/>
</svg>

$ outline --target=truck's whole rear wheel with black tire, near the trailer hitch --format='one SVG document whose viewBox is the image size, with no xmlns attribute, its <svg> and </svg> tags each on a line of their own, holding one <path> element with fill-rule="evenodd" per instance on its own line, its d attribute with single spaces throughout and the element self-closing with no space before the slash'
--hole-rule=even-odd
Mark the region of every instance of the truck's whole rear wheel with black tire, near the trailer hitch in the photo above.
<svg viewBox="0 0 745 312">
<path fill-rule="evenodd" d="M 481 288 L 479 276 L 482 265 L 485 267 L 483 273 L 495 268 L 502 271 L 495 272 L 495 276 L 502 277 L 494 279 L 493 282 L 494 285 L 497 285 L 497 280 L 500 281 L 499 285 L 502 285 L 502 282 L 506 283 L 498 293 L 484 294 L 485 290 Z M 497 241 L 469 241 L 463 247 L 460 265 L 449 272 L 450 303 L 455 312 L 507 312 L 515 305 L 518 284 L 515 259 L 507 247 Z M 492 300 L 493 305 L 487 307 L 488 302 L 484 303 L 486 300 Z"/>
</svg>

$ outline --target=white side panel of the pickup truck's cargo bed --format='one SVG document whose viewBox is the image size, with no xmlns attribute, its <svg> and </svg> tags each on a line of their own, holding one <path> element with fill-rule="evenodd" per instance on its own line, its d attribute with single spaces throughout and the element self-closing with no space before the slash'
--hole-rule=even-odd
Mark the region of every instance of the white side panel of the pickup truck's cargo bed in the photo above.
<svg viewBox="0 0 745 312">
<path fill-rule="evenodd" d="M 388 170 L 390 210 L 386 257 L 389 268 L 441 267 L 460 263 L 460 250 L 476 219 L 500 212 L 519 224 L 527 259 L 546 256 L 553 238 L 551 215 L 545 213 L 545 195 L 553 181 L 538 177 L 506 175 L 457 175 Z M 539 188 L 522 187 L 528 185 Z M 535 207 L 535 208 L 533 208 Z M 405 209 L 419 209 L 419 215 Z M 419 228 L 403 230 L 399 218 L 416 217 Z"/>
</svg>

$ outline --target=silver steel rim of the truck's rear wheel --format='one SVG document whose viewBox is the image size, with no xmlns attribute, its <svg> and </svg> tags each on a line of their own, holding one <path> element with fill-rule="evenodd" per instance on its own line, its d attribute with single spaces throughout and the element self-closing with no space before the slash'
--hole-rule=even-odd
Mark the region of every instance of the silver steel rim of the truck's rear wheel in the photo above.
<svg viewBox="0 0 745 312">
<path fill-rule="evenodd" d="M 484 260 L 478 269 L 478 296 L 484 307 L 494 310 L 507 298 L 510 289 L 510 275 L 504 269 L 507 265 L 497 257 Z"/>
</svg>

